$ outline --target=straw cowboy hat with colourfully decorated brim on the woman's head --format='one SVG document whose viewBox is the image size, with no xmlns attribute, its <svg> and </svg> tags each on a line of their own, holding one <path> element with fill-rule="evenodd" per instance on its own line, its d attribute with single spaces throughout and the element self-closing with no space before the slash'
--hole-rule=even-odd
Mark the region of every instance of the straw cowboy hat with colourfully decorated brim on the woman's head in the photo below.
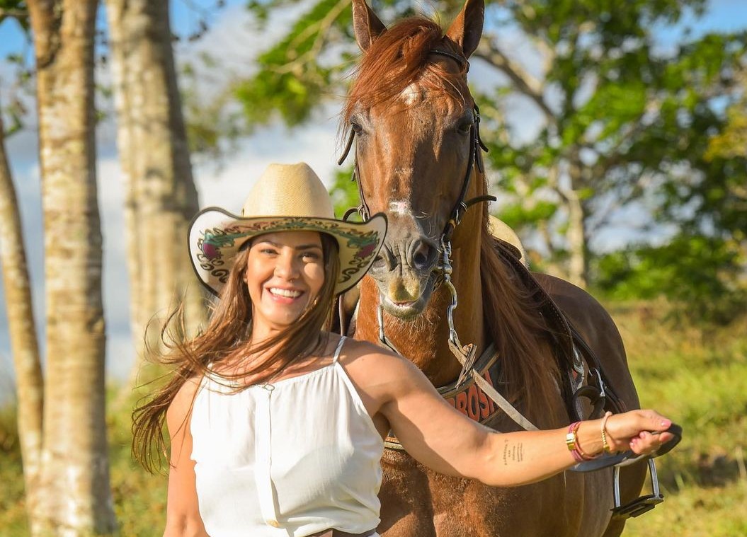
<svg viewBox="0 0 747 537">
<path fill-rule="evenodd" d="M 234 258 L 247 240 L 264 233 L 313 231 L 337 240 L 340 273 L 335 294 L 365 276 L 386 235 L 386 217 L 368 222 L 335 220 L 329 193 L 308 164 L 270 164 L 249 192 L 241 215 L 218 207 L 200 211 L 190 223 L 189 252 L 200 281 L 220 294 Z"/>
</svg>

